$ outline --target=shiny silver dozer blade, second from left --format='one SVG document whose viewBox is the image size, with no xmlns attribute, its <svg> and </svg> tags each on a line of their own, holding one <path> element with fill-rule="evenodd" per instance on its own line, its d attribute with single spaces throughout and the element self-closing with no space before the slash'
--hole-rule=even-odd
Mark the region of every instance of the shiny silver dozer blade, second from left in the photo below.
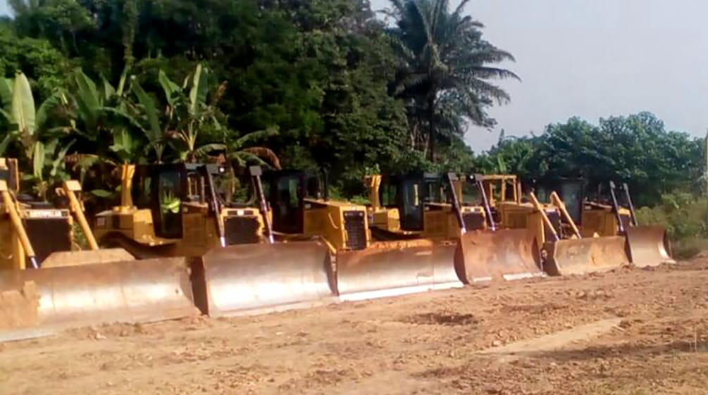
<svg viewBox="0 0 708 395">
<path fill-rule="evenodd" d="M 209 316 L 336 302 L 329 248 L 321 241 L 214 248 L 193 271 L 197 305 Z"/>
</svg>

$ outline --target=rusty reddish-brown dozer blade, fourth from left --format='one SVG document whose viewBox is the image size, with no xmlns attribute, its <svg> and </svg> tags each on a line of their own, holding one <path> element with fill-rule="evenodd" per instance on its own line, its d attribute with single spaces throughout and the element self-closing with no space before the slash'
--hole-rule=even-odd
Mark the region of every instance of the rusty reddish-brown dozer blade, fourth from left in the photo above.
<svg viewBox="0 0 708 395">
<path fill-rule="evenodd" d="M 466 284 L 543 277 L 536 245 L 527 229 L 471 231 L 460 238 L 457 265 Z"/>
</svg>

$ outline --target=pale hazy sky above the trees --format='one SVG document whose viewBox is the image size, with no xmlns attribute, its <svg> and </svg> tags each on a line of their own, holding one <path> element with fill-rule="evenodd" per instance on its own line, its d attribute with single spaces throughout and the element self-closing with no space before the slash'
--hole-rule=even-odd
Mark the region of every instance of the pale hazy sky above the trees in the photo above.
<svg viewBox="0 0 708 395">
<path fill-rule="evenodd" d="M 597 122 L 649 110 L 670 129 L 705 134 L 708 1 L 472 0 L 467 13 L 513 53 L 517 62 L 505 66 L 523 79 L 501 83 L 512 102 L 491 110 L 497 130 L 468 132 L 474 151 L 488 149 L 502 127 L 540 133 L 573 115 Z"/>
</svg>

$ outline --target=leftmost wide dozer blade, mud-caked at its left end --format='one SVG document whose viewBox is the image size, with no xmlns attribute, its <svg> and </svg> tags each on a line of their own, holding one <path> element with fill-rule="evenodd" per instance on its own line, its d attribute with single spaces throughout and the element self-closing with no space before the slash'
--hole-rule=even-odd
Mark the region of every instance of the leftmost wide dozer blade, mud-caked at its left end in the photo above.
<svg viewBox="0 0 708 395">
<path fill-rule="evenodd" d="M 0 341 L 198 314 L 185 258 L 0 272 Z"/>
</svg>

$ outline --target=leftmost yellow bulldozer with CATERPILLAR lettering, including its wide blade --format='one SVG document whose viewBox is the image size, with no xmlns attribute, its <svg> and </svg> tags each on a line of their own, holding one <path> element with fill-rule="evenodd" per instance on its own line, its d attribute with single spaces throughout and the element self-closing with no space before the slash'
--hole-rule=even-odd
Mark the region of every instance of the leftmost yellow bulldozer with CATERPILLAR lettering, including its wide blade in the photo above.
<svg viewBox="0 0 708 395">
<path fill-rule="evenodd" d="M 17 161 L 0 159 L 0 340 L 198 314 L 184 260 L 138 263 L 120 248 L 99 249 L 77 181 L 57 188 L 64 205 L 20 193 L 19 180 Z"/>
</svg>

